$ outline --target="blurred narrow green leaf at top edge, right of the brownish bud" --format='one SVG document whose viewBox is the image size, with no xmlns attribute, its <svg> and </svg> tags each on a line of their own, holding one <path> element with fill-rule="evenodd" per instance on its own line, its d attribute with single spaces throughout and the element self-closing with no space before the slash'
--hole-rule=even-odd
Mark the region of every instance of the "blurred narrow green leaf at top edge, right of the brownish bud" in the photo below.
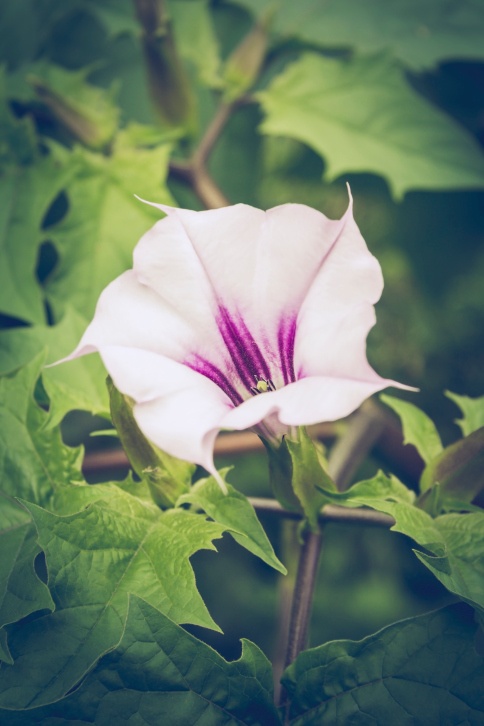
<svg viewBox="0 0 484 726">
<path fill-rule="evenodd" d="M 180 56 L 193 63 L 201 83 L 220 88 L 220 54 L 208 0 L 170 0 L 168 6 Z"/>
</svg>

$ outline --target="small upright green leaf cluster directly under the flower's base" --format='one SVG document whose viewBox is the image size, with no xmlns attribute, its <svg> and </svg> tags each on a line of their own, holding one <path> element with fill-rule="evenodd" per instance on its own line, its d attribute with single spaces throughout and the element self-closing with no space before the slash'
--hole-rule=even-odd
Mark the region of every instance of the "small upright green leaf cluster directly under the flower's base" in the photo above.
<svg viewBox="0 0 484 726">
<path fill-rule="evenodd" d="M 299 512 L 310 529 L 317 531 L 318 514 L 326 502 L 320 489 L 336 491 L 319 444 L 302 426 L 296 429 L 295 437 L 285 436 L 278 447 L 267 441 L 264 444 L 274 496 L 286 509 Z"/>
</svg>

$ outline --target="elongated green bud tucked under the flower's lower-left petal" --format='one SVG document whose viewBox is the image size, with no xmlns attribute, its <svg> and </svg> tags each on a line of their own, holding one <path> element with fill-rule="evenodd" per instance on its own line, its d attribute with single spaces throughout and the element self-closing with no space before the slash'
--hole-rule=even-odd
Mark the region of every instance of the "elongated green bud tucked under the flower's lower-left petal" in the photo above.
<svg viewBox="0 0 484 726">
<path fill-rule="evenodd" d="M 141 432 L 133 414 L 133 402 L 107 379 L 111 418 L 136 474 L 145 481 L 154 501 L 163 509 L 174 507 L 189 491 L 195 466 L 158 449 Z"/>
</svg>

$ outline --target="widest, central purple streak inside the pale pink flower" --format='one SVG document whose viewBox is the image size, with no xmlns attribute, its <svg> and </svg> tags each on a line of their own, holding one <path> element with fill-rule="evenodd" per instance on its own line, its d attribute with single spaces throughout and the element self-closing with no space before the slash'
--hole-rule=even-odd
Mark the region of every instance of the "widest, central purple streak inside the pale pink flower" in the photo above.
<svg viewBox="0 0 484 726">
<path fill-rule="evenodd" d="M 229 311 L 220 306 L 217 324 L 240 380 L 247 390 L 250 391 L 256 377 L 270 378 L 264 356 L 242 318 L 239 316 L 234 320 Z"/>
</svg>

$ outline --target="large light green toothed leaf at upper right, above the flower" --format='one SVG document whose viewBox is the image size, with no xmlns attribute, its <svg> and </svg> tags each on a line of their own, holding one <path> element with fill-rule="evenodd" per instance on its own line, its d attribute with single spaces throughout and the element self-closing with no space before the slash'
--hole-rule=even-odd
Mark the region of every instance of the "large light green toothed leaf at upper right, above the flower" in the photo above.
<svg viewBox="0 0 484 726">
<path fill-rule="evenodd" d="M 306 53 L 258 94 L 261 131 L 324 157 L 326 174 L 372 172 L 409 189 L 481 188 L 484 156 L 448 116 L 414 92 L 388 58 Z"/>
</svg>

